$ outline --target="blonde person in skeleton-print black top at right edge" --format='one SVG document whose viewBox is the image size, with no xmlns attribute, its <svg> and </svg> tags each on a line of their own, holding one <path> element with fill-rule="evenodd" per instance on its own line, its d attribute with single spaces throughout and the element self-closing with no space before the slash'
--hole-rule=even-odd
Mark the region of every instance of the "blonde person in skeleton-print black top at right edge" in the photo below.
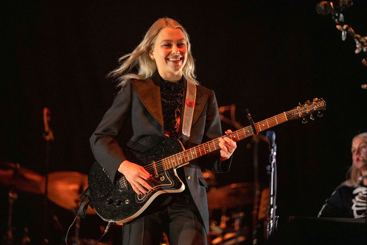
<svg viewBox="0 0 367 245">
<path fill-rule="evenodd" d="M 367 197 L 367 132 L 352 140 L 352 166 L 348 180 L 339 185 L 325 202 L 317 217 L 366 217 Z"/>
</svg>

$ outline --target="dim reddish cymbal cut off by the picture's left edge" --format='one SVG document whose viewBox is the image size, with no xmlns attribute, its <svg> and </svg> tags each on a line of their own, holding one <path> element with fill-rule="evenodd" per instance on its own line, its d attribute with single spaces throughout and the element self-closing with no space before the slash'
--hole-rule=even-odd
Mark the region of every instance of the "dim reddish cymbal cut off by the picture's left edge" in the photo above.
<svg viewBox="0 0 367 245">
<path fill-rule="evenodd" d="M 32 194 L 44 193 L 44 176 L 19 163 L 0 162 L 0 183 Z"/>
</svg>

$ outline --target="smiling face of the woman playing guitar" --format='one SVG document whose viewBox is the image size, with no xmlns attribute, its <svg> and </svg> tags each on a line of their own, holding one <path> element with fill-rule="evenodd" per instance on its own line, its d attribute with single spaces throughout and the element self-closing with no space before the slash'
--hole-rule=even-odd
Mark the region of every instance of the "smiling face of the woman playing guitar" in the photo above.
<svg viewBox="0 0 367 245">
<path fill-rule="evenodd" d="M 162 29 L 149 55 L 155 60 L 159 75 L 164 80 L 180 80 L 187 59 L 186 40 L 182 30 Z"/>
</svg>

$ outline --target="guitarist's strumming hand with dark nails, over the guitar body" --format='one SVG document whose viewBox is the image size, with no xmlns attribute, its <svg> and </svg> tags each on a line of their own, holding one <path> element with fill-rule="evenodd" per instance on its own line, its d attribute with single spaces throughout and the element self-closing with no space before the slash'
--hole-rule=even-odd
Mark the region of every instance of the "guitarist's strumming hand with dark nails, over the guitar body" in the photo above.
<svg viewBox="0 0 367 245">
<path fill-rule="evenodd" d="M 145 180 L 149 180 L 152 175 L 149 174 L 142 166 L 126 160 L 120 164 L 117 171 L 126 177 L 127 181 L 131 184 L 132 189 L 137 194 L 148 194 L 143 187 L 147 190 L 153 190 L 153 188 L 145 182 Z"/>
</svg>

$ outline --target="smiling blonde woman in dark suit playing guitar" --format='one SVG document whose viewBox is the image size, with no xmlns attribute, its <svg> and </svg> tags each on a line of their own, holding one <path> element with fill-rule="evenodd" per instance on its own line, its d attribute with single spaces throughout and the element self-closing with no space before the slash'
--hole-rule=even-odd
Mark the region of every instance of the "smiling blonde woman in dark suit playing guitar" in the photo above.
<svg viewBox="0 0 367 245">
<path fill-rule="evenodd" d="M 122 173 L 140 197 L 153 191 L 146 182 L 153 175 L 124 155 L 118 136 L 128 120 L 133 132 L 126 146 L 138 152 L 152 149 L 167 137 L 179 139 L 186 149 L 195 147 L 221 137 L 221 122 L 214 92 L 196 81 L 189 36 L 177 21 L 158 19 L 135 50 L 119 61 L 121 65 L 109 76 L 118 80 L 120 92 L 90 143 L 95 159 L 108 172 L 110 180 L 115 180 L 117 172 Z M 137 74 L 131 73 L 135 66 Z M 185 100 L 188 85 L 196 87 L 195 107 Z M 192 123 L 190 137 L 182 139 L 186 104 L 193 107 Z M 236 143 L 228 137 L 219 141 L 220 151 L 177 168 L 185 190 L 159 195 L 141 215 L 124 223 L 122 244 L 159 245 L 162 231 L 170 245 L 206 244 L 207 186 L 200 167 L 228 171 L 236 148 Z"/>
</svg>

